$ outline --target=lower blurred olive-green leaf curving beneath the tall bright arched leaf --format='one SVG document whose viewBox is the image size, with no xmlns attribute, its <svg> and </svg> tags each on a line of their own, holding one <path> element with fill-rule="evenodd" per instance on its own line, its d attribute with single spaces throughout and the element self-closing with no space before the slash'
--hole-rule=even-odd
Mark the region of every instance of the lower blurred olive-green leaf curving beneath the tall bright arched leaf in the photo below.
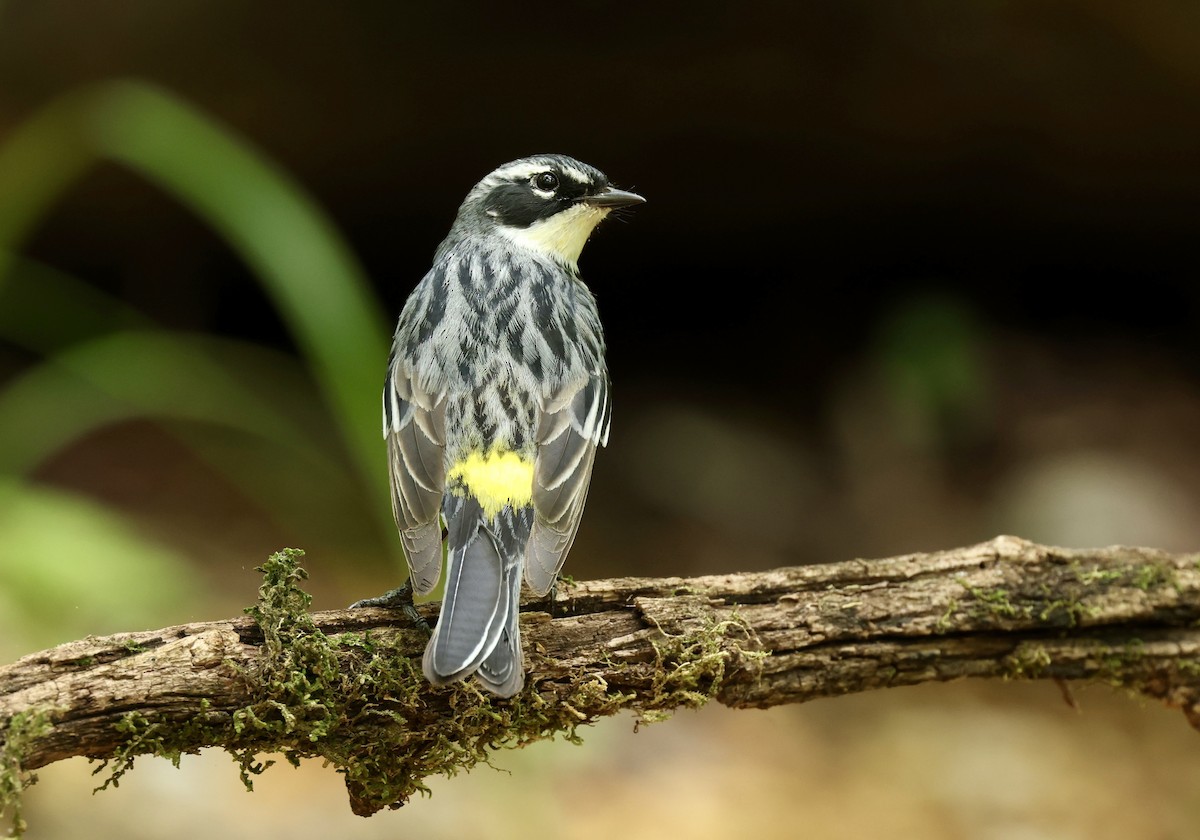
<svg viewBox="0 0 1200 840">
<path fill-rule="evenodd" d="M 28 474 L 96 428 L 150 418 L 251 436 L 257 452 L 224 457 L 200 436 L 182 437 L 280 520 L 301 514 L 289 496 L 294 481 L 272 485 L 277 473 L 264 472 L 272 451 L 308 486 L 366 504 L 328 424 L 311 409 L 305 416 L 312 391 L 298 373 L 281 354 L 211 336 L 126 331 L 80 342 L 0 390 L 0 473 Z"/>
</svg>

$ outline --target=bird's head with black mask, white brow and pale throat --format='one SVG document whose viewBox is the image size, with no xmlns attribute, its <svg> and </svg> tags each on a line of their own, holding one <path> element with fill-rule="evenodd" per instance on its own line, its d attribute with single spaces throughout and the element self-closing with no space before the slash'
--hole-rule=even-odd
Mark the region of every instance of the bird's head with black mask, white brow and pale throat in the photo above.
<svg viewBox="0 0 1200 840">
<path fill-rule="evenodd" d="M 602 172 L 574 157 L 535 155 L 505 163 L 476 184 L 455 227 L 494 233 L 574 266 L 605 216 L 644 200 L 614 188 Z"/>
</svg>

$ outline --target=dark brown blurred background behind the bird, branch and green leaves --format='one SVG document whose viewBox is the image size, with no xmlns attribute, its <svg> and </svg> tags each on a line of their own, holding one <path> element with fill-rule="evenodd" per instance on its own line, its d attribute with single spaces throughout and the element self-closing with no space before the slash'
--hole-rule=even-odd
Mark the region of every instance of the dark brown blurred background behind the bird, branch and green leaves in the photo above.
<svg viewBox="0 0 1200 840">
<path fill-rule="evenodd" d="M 499 163 L 566 152 L 644 194 L 581 259 L 616 410 L 576 577 L 887 556 L 1001 532 L 1194 551 L 1198 37 L 1200 6 L 1165 0 L 8 0 L 0 142 L 90 83 L 156 85 L 302 186 L 361 264 L 383 331 L 462 197 Z M 253 596 L 251 566 L 283 545 L 308 550 L 318 607 L 398 581 L 394 535 L 362 512 L 385 491 L 337 444 L 295 322 L 227 234 L 137 167 L 103 161 L 26 227 L 12 240 L 16 280 L 0 286 L 0 377 L 18 383 L 104 334 L 35 306 L 40 278 L 68 277 L 72 300 L 120 308 L 114 324 L 229 340 L 218 366 L 325 436 L 341 478 L 264 454 L 244 430 L 97 409 L 0 487 L 5 659 L 235 612 Z M 142 362 L 121 370 L 137 379 Z M 383 364 L 355 374 L 382 378 Z M 186 391 L 187 376 L 175 385 Z M 84 416 L 70 395 L 46 404 Z M 48 422 L 29 414 L 30 434 Z M 5 428 L 19 450 L 22 427 Z M 77 542 L 53 524 L 67 514 L 89 523 Z M 120 559 L 106 566 L 94 550 Z M 64 556 L 73 564 L 48 571 Z M 84 822 L 72 820 L 191 836 L 180 815 L 202 799 L 199 824 L 233 835 L 272 824 L 268 803 L 286 800 L 298 836 L 600 836 L 640 832 L 619 817 L 635 808 L 646 836 L 722 836 L 745 828 L 748 808 L 767 836 L 799 824 L 817 836 L 1195 836 L 1200 744 L 1182 718 L 1086 694 L 1081 716 L 1052 688 L 984 684 L 706 710 L 637 737 L 617 721 L 582 748 L 502 755 L 514 775 L 439 782 L 368 822 L 319 767 L 230 799 L 216 791 L 234 773 L 210 772 L 212 756 L 180 772 L 145 762 L 95 800 L 85 766 L 52 768 L 29 836 L 73 836 Z M 210 775 L 230 786 L 199 793 Z M 1117 785 L 1126 805 L 1098 805 Z M 299 790 L 302 802 L 287 799 Z M 131 826 L 146 797 L 169 804 Z"/>
</svg>

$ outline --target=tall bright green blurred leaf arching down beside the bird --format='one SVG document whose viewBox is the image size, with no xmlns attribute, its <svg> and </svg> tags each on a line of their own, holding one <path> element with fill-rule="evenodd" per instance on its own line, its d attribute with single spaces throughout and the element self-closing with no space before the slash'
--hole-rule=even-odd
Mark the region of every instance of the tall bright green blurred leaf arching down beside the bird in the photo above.
<svg viewBox="0 0 1200 840">
<path fill-rule="evenodd" d="M 317 204 L 286 173 L 211 118 L 164 90 L 124 80 L 62 96 L 19 126 L 0 146 L 0 287 L 24 238 L 53 202 L 100 160 L 128 166 L 191 208 L 256 272 L 308 360 L 355 469 L 371 488 L 366 497 L 377 523 L 390 533 L 378 432 L 388 335 L 378 301 Z M 181 394 L 179 372 L 172 377 L 148 364 L 152 376 L 148 374 L 146 383 L 166 389 L 161 403 L 167 395 Z M 94 373 L 106 373 L 101 370 L 106 364 L 96 360 L 95 365 Z M 119 389 L 118 378 L 108 377 L 106 390 Z M 139 396 L 144 404 L 149 389 L 142 389 Z M 90 398 L 84 406 L 101 421 L 122 412 L 121 406 Z M 30 413 L 12 406 L 8 410 Z M 50 418 L 34 450 L 44 452 L 54 439 L 73 433 L 72 426 L 79 422 Z M 283 443 L 289 444 L 287 439 Z M 12 458 L 13 446 L 7 449 Z"/>
</svg>

